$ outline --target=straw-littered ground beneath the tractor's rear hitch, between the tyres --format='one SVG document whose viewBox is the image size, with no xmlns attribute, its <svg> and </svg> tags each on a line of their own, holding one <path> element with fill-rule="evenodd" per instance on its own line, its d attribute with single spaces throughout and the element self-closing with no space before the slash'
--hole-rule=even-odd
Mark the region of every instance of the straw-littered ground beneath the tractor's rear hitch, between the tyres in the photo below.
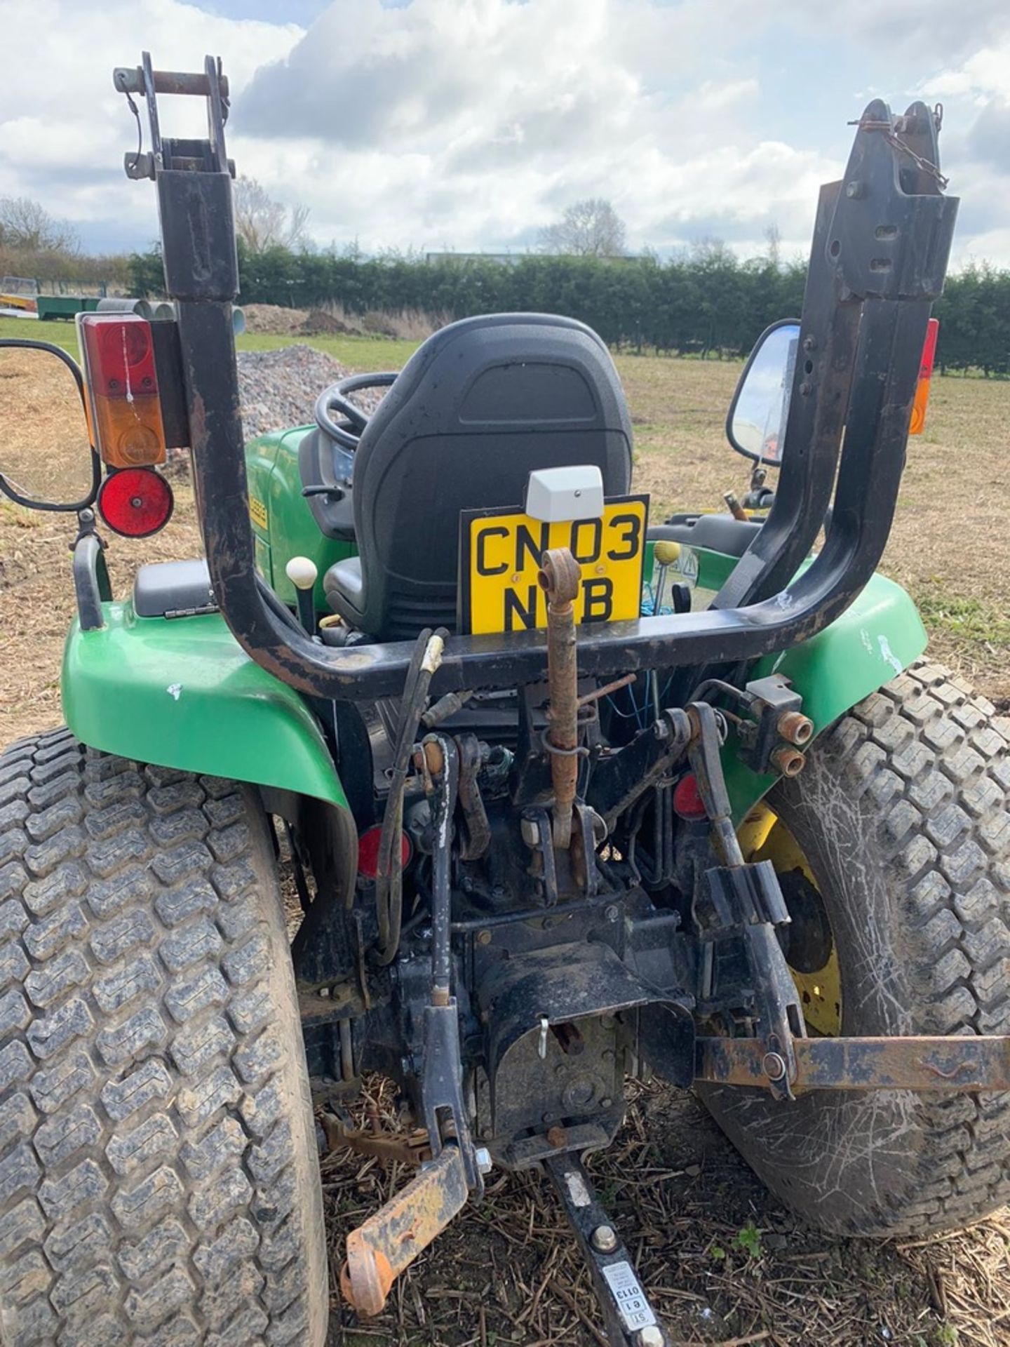
<svg viewBox="0 0 1010 1347">
<path fill-rule="evenodd" d="M 832 1239 L 770 1199 L 698 1102 L 629 1084 L 628 1122 L 587 1168 L 637 1262 L 673 1347 L 1006 1347 L 1010 1224 L 887 1243 Z M 373 1082 L 365 1126 L 395 1131 L 393 1095 Z M 351 1150 L 322 1165 L 330 1257 L 407 1179 Z M 606 1347 L 593 1289 L 549 1183 L 492 1176 L 362 1325 L 337 1300 L 334 1342 L 432 1347 Z"/>
</svg>

